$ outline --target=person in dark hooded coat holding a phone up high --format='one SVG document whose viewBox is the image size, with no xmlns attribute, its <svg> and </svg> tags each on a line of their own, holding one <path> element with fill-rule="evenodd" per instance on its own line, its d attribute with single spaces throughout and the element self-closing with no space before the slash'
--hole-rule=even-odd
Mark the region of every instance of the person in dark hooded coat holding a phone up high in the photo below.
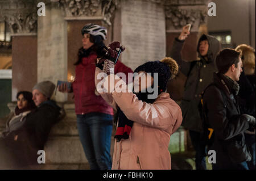
<svg viewBox="0 0 256 181">
<path fill-rule="evenodd" d="M 220 42 L 213 36 L 202 35 L 197 44 L 197 53 L 200 60 L 185 61 L 181 57 L 181 50 L 188 35 L 188 26 L 184 26 L 180 36 L 174 40 L 171 57 L 179 64 L 181 73 L 187 77 L 183 99 L 180 104 L 183 116 L 182 126 L 189 130 L 189 136 L 196 151 L 196 170 L 205 170 L 206 154 L 205 145 L 200 140 L 203 127 L 198 105 L 201 92 L 212 81 L 212 73 L 217 71 L 215 59 L 220 51 Z"/>
</svg>

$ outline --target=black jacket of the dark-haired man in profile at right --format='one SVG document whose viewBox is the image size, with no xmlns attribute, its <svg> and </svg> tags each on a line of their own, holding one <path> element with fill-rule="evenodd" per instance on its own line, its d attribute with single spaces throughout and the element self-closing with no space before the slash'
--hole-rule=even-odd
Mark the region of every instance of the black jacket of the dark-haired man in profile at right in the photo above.
<svg viewBox="0 0 256 181">
<path fill-rule="evenodd" d="M 249 128 L 248 118 L 240 112 L 232 81 L 223 74 L 214 73 L 214 84 L 205 90 L 203 102 L 207 120 L 214 130 L 214 142 L 210 149 L 216 151 L 216 162 L 250 161 L 251 155 L 246 148 L 244 136 Z M 221 91 L 226 96 L 225 102 Z"/>
</svg>

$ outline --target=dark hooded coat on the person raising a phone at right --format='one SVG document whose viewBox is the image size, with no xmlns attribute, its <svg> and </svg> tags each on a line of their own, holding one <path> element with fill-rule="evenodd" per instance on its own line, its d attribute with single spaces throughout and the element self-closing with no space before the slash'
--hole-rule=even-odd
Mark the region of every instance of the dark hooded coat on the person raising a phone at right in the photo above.
<svg viewBox="0 0 256 181">
<path fill-rule="evenodd" d="M 171 57 L 179 64 L 180 71 L 187 76 L 184 95 L 180 105 L 183 116 L 182 125 L 184 128 L 197 132 L 203 131 L 199 110 L 197 108 L 200 103 L 201 92 L 213 80 L 213 72 L 217 71 L 215 60 L 217 53 L 220 51 L 220 43 L 216 38 L 209 35 L 202 36 L 206 36 L 209 43 L 207 52 L 208 61 L 201 56 L 199 56 L 199 61 L 188 62 L 182 60 L 181 49 L 184 41 L 180 41 L 177 38 L 171 50 Z M 197 52 L 199 52 L 199 44 L 197 44 Z"/>
</svg>

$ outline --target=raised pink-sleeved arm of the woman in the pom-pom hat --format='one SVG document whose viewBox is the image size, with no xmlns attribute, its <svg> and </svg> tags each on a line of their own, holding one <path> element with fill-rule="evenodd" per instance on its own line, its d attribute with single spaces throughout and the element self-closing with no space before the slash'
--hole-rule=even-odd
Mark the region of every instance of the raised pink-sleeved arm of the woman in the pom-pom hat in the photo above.
<svg viewBox="0 0 256 181">
<path fill-rule="evenodd" d="M 179 128 L 182 121 L 180 107 L 170 99 L 167 102 L 159 104 L 149 104 L 142 102 L 138 97 L 129 92 L 126 83 L 117 75 L 114 77 L 114 86 L 110 86 L 113 79 L 111 74 L 105 78 L 105 87 L 109 87 L 113 99 L 119 108 L 125 113 L 128 119 L 150 127 L 155 127 L 172 132 Z"/>
</svg>

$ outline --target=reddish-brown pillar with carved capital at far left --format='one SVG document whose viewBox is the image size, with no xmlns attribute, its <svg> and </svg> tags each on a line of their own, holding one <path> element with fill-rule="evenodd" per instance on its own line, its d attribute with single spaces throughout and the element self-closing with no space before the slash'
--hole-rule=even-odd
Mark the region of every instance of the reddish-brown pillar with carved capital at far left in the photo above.
<svg viewBox="0 0 256 181">
<path fill-rule="evenodd" d="M 12 100 L 20 90 L 31 91 L 37 77 L 37 15 L 34 1 L 1 1 L 0 17 L 12 36 Z"/>
</svg>

